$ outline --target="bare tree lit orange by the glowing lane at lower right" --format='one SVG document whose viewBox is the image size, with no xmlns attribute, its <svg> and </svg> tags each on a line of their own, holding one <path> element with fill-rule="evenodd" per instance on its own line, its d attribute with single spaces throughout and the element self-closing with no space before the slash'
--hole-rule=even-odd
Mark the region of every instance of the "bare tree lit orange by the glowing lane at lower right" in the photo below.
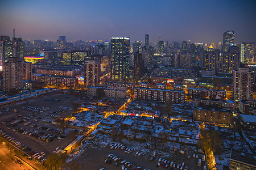
<svg viewBox="0 0 256 170">
<path fill-rule="evenodd" d="M 221 140 L 216 130 L 202 130 L 197 145 L 205 151 L 209 150 L 220 154 L 220 142 Z"/>
</svg>

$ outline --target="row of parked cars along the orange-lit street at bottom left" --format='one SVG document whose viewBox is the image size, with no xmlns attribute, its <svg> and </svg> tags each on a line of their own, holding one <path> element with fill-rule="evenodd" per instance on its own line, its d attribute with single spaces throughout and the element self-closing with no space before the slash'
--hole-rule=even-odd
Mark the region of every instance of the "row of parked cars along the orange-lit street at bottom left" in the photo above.
<svg viewBox="0 0 256 170">
<path fill-rule="evenodd" d="M 46 161 L 46 159 L 44 158 L 44 155 L 46 154 L 44 154 L 44 152 L 41 152 L 39 154 L 38 152 L 31 150 L 31 148 L 27 147 L 26 145 L 22 145 L 22 143 L 17 141 L 15 138 L 12 138 L 10 135 L 4 133 L 2 130 L 0 130 L 0 135 L 3 138 L 5 138 L 6 141 L 11 143 L 13 146 L 25 152 L 27 155 L 30 155 L 30 156 L 26 156 L 27 159 L 31 160 L 32 158 L 34 158 L 35 160 L 38 160 L 39 162 L 42 162 L 42 163 Z"/>
</svg>

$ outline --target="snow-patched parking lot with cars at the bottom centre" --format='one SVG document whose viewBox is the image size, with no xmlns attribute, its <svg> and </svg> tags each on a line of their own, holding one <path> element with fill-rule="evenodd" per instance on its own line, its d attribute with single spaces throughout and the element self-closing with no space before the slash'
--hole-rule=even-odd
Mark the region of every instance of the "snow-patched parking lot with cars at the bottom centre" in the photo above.
<svg viewBox="0 0 256 170">
<path fill-rule="evenodd" d="M 102 134 L 98 134 L 100 135 Z M 203 156 L 199 152 L 185 151 L 181 154 L 179 151 L 174 151 L 172 147 L 168 147 L 170 150 L 164 148 L 164 150 L 154 151 L 152 148 L 145 148 L 145 143 L 130 141 L 119 143 L 118 146 L 118 142 L 109 141 L 107 138 L 102 141 L 101 139 L 87 141 L 84 153 L 69 165 L 81 164 L 81 167 L 85 169 L 121 169 L 122 166 L 127 169 L 137 169 L 137 167 L 142 169 L 185 169 L 186 167 L 187 169 L 204 169 L 206 164 L 206 160 L 202 160 L 201 167 L 198 166 L 198 160 Z M 84 160 L 87 161 L 84 162 Z M 81 167 L 77 169 L 82 169 Z"/>
</svg>

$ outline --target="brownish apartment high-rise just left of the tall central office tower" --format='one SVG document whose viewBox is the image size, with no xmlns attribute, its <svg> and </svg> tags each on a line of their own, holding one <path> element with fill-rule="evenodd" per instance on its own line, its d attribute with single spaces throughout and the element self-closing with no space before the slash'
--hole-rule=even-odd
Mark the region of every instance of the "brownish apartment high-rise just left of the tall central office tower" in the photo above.
<svg viewBox="0 0 256 170">
<path fill-rule="evenodd" d="M 96 86 L 100 83 L 101 64 L 96 61 L 88 61 L 84 65 L 84 84 Z"/>
</svg>

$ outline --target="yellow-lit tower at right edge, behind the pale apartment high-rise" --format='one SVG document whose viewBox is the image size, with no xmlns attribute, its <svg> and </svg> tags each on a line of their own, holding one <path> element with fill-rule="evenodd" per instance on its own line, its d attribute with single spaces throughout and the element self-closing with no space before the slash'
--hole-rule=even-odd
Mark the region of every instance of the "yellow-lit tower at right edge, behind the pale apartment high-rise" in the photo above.
<svg viewBox="0 0 256 170">
<path fill-rule="evenodd" d="M 243 63 L 249 64 L 254 62 L 254 42 L 242 42 L 243 44 Z"/>
</svg>

